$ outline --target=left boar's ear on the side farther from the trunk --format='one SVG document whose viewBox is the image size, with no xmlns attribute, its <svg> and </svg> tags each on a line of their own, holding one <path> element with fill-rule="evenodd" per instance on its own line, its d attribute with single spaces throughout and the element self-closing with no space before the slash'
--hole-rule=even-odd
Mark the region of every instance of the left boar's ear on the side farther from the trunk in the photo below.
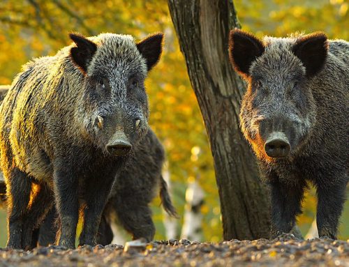
<svg viewBox="0 0 349 267">
<path fill-rule="evenodd" d="M 82 73 L 86 73 L 87 64 L 94 56 L 97 45 L 79 33 L 69 33 L 69 37 L 76 44 L 76 47 L 70 49 L 70 57 Z"/>
</svg>

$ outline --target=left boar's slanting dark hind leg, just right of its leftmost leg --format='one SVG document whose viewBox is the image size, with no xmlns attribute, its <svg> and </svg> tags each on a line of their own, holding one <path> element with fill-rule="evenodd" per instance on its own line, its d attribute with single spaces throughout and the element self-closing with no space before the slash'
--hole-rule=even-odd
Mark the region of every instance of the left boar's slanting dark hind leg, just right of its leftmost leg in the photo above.
<svg viewBox="0 0 349 267">
<path fill-rule="evenodd" d="M 29 216 L 24 220 L 22 228 L 22 247 L 24 249 L 31 249 L 34 229 L 38 228 L 40 222 L 45 218 L 47 211 L 53 204 L 52 191 L 46 185 L 40 185 L 35 199 L 32 201 Z"/>
</svg>

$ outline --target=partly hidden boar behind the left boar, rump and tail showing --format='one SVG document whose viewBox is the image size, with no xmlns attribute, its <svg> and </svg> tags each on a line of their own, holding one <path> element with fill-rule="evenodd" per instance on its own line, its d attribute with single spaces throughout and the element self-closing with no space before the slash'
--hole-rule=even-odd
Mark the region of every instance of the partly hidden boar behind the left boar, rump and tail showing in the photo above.
<svg viewBox="0 0 349 267">
<path fill-rule="evenodd" d="M 160 190 L 160 198 L 165 211 L 176 216 L 172 206 L 166 182 L 161 175 L 165 159 L 163 146 L 154 132 L 149 129 L 137 148 L 122 169 L 114 183 L 110 199 L 105 206 L 98 229 L 97 243 L 108 245 L 112 242 L 113 232 L 110 224 L 117 220 L 133 239 L 145 238 L 151 241 L 154 238 L 155 226 L 151 219 L 149 203 Z M 55 211 L 50 211 L 40 225 L 38 236 L 34 238 L 34 246 L 54 243 L 56 229 L 54 222 Z M 35 234 L 34 234 L 35 235 Z"/>
</svg>

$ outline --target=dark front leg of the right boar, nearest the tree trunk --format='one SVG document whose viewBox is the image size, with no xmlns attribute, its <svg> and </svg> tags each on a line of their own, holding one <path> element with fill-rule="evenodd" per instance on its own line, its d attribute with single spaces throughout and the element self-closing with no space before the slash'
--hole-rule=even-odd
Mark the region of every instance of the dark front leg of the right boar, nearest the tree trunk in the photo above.
<svg viewBox="0 0 349 267">
<path fill-rule="evenodd" d="M 272 238 L 290 233 L 295 227 L 296 216 L 302 213 L 304 188 L 305 184 L 290 185 L 272 181 Z"/>
</svg>

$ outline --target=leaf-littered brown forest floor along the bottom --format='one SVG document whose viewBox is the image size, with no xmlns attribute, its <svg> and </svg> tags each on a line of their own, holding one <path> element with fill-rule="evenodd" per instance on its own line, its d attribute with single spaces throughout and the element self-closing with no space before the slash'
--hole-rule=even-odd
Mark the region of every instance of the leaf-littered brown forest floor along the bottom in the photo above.
<svg viewBox="0 0 349 267">
<path fill-rule="evenodd" d="M 77 250 L 57 246 L 31 251 L 0 249 L 0 267 L 4 266 L 349 266 L 349 240 L 301 241 L 287 235 L 273 241 L 154 241 L 131 248 L 97 245 Z"/>
</svg>

